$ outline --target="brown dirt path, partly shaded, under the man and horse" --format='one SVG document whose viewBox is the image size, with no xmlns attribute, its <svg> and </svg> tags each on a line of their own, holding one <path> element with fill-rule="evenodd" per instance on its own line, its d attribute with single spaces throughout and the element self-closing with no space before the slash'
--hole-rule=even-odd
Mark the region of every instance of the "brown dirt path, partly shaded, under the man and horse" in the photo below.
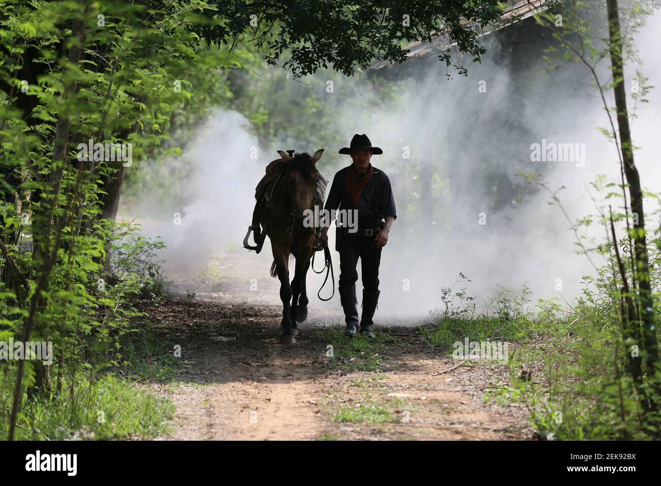
<svg viewBox="0 0 661 486">
<path fill-rule="evenodd" d="M 149 385 L 177 407 L 163 440 L 533 435 L 523 409 L 484 401 L 486 388 L 507 381 L 504 366 L 455 367 L 416 327 L 381 327 L 377 343 L 346 343 L 340 316 L 315 319 L 311 309 L 297 343 L 282 345 L 278 305 L 168 298 L 145 310 L 153 332 L 182 351 L 173 381 Z"/>
</svg>

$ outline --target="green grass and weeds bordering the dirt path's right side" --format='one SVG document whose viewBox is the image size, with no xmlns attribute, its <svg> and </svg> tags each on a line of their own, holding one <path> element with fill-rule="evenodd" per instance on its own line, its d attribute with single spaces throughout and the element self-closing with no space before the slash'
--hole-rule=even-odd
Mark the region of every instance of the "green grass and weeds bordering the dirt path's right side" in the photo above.
<svg viewBox="0 0 661 486">
<path fill-rule="evenodd" d="M 464 290 L 454 296 L 451 291 L 442 296 L 446 305 L 437 311 L 437 321 L 419 328 L 428 346 L 451 353 L 453 343 L 465 338 L 514 341 L 506 362 L 510 378 L 486 389 L 485 401 L 525 407 L 541 439 L 658 438 L 661 417 L 642 411 L 635 386 L 623 373 L 629 349 L 622 341 L 617 302 L 590 290 L 570 309 L 552 299 L 540 300 L 532 311 L 525 295 L 501 296 L 490 315 L 475 315 Z"/>
</svg>

